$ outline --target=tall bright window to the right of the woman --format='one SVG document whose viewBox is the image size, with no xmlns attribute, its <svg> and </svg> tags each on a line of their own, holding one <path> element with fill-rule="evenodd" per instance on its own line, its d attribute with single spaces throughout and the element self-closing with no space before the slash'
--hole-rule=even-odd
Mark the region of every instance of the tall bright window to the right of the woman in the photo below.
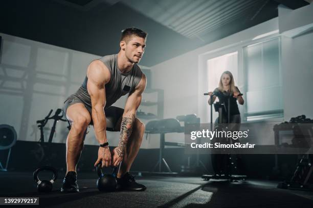
<svg viewBox="0 0 313 208">
<path fill-rule="evenodd" d="M 245 120 L 283 117 L 280 39 L 243 48 Z"/>
</svg>

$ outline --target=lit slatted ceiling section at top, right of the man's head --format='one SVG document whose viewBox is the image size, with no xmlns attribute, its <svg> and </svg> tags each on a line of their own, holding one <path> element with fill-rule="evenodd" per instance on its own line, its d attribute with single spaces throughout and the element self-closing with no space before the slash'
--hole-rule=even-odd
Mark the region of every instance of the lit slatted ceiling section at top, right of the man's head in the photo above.
<svg viewBox="0 0 313 208">
<path fill-rule="evenodd" d="M 258 12 L 258 9 L 267 2 L 259 0 L 123 1 L 130 8 L 190 39 L 204 36 L 236 19 L 245 19 L 251 10 Z M 253 18 L 253 16 L 249 17 Z"/>
</svg>

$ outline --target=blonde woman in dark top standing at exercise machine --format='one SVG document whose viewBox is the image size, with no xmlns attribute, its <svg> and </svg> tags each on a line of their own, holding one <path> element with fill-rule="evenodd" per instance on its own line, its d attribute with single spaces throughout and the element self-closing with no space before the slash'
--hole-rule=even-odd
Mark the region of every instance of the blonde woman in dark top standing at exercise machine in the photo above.
<svg viewBox="0 0 313 208">
<path fill-rule="evenodd" d="M 230 98 L 230 122 L 229 123 L 241 123 L 240 113 L 238 109 L 237 101 L 240 105 L 243 105 L 244 100 L 238 87 L 235 86 L 235 81 L 233 74 L 230 71 L 224 71 L 220 76 L 218 88 L 216 88 L 213 92 L 209 92 L 209 95 L 213 95 L 214 103 L 216 97 L 218 97 L 220 102 L 224 102 L 226 107 L 228 106 L 228 98 L 225 97 L 227 94 L 232 94 L 233 96 Z M 209 105 L 211 105 L 211 100 L 208 100 Z M 218 118 L 215 123 L 217 123 Z M 223 113 L 222 115 L 222 123 L 227 123 L 227 113 Z"/>
</svg>

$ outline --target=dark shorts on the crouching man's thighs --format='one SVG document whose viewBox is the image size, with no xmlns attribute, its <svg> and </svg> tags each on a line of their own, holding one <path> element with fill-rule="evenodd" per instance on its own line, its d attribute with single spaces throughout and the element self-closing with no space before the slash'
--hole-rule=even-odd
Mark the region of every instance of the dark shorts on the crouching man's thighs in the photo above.
<svg viewBox="0 0 313 208">
<path fill-rule="evenodd" d="M 92 115 L 92 109 L 89 105 L 86 105 L 80 98 L 71 95 L 64 101 L 64 106 L 63 106 L 63 115 L 66 118 L 66 110 L 72 106 L 75 103 L 83 103 L 85 108 L 88 110 L 90 113 L 90 116 Z M 115 107 L 115 106 L 110 106 L 104 110 L 105 117 L 106 117 L 106 130 L 110 132 L 119 132 L 121 131 L 121 125 L 118 125 L 118 122 L 121 121 L 121 118 L 124 113 L 124 109 Z M 67 118 L 66 118 L 67 120 Z M 68 120 L 70 123 L 70 121 Z M 71 124 L 71 123 L 70 123 Z M 91 120 L 90 125 L 93 125 L 93 120 Z"/>
</svg>

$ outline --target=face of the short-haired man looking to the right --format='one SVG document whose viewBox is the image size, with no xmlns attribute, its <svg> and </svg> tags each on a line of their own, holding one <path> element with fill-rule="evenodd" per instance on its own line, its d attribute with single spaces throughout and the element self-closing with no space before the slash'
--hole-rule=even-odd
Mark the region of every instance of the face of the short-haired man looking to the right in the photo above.
<svg viewBox="0 0 313 208">
<path fill-rule="evenodd" d="M 124 47 L 126 58 L 137 64 L 145 51 L 146 40 L 138 36 L 132 36 Z"/>
</svg>

